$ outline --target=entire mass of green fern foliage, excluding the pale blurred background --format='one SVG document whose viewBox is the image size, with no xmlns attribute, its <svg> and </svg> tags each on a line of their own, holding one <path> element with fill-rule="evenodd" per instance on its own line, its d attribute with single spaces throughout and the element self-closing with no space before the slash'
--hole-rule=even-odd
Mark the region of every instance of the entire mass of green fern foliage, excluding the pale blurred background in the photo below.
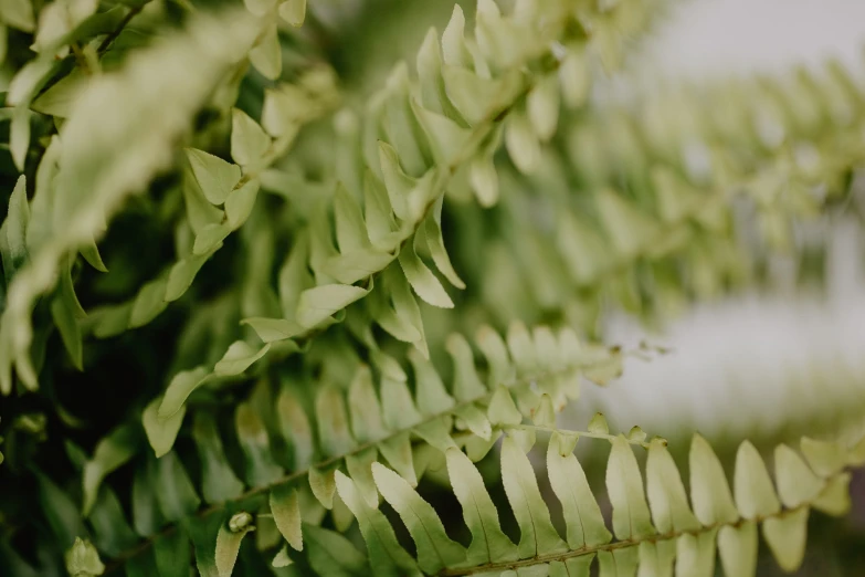
<svg viewBox="0 0 865 577">
<path fill-rule="evenodd" d="M 668 2 L 449 2 L 0 0 L 0 575 L 865 571 L 861 396 L 557 418 L 676 354 L 611 313 L 821 285 L 857 73 L 613 99 Z"/>
</svg>

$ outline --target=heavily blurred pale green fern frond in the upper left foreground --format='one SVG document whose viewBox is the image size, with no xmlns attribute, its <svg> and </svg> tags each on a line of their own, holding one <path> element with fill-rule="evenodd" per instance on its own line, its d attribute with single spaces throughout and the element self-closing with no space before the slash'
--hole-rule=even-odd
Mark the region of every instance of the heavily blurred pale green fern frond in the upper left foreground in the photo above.
<svg viewBox="0 0 865 577">
<path fill-rule="evenodd" d="M 225 38 L 219 50 L 207 45 L 204 39 L 210 34 Z M 52 191 L 51 203 L 43 195 L 32 207 L 29 225 L 50 232 L 38 245 L 28 246 L 30 263 L 10 285 L 0 323 L 0 390 L 4 395 L 12 390 L 13 365 L 28 388 L 36 387 L 30 359 L 30 316 L 36 298 L 55 284 L 55 270 L 70 251 L 104 233 L 107 216 L 170 164 L 170 144 L 188 128 L 188 118 L 253 35 L 253 22 L 238 14 L 202 18 L 187 33 L 130 57 L 123 71 L 94 81 L 76 101 L 60 144 L 54 145 L 60 148 L 54 157 L 57 190 Z M 156 78 L 154 70 L 159 71 Z M 155 82 L 165 88 L 156 91 Z M 168 94 L 172 95 L 170 109 L 165 108 Z M 150 111 L 158 123 L 143 119 L 150 118 Z"/>
</svg>

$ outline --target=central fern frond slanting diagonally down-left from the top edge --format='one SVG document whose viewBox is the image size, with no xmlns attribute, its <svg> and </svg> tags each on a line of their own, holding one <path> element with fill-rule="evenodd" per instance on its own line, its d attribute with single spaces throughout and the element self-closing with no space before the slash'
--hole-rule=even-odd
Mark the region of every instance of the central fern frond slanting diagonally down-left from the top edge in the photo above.
<svg viewBox="0 0 865 577">
<path fill-rule="evenodd" d="M 623 2 L 614 11 L 641 7 Z M 308 250 L 308 255 L 296 261 L 289 255 L 286 262 L 297 277 L 291 281 L 294 294 L 283 302 L 285 317 L 245 321 L 265 344 L 243 345 L 243 359 L 253 363 L 274 342 L 307 338 L 340 321 L 342 311 L 360 300 L 369 301 L 370 316 L 384 331 L 428 354 L 411 290 L 434 306 L 452 302 L 418 254 L 429 254 L 454 286 L 464 286 L 444 248 L 443 195 L 464 186 L 472 167 L 481 167 L 484 186 L 489 186 L 486 162 L 503 139 L 511 157 L 528 155 L 515 161 L 529 168 L 539 138 L 551 137 L 548 116 L 558 115 L 556 74 L 576 73 L 568 66 L 560 70 L 567 55 L 558 54 L 550 39 L 568 43 L 587 34 L 588 28 L 582 33 L 571 30 L 578 17 L 582 27 L 593 18 L 574 14 L 558 1 L 523 2 L 510 15 L 482 2 L 471 39 L 464 35 L 465 19 L 456 7 L 441 44 L 435 31 L 426 35 L 418 54 L 418 81 L 409 78 L 401 63 L 371 97 L 362 128 L 340 117 L 346 137 L 354 139 L 352 146 L 339 149 L 346 157 L 337 162 L 348 174 L 340 175 L 344 180 L 331 200 L 315 206 L 310 230 L 295 239 L 294 250 Z M 604 18 L 599 17 L 592 30 L 604 29 Z M 532 111 L 530 118 L 523 106 Z M 270 179 L 278 178 L 271 174 Z M 214 367 L 204 378 L 230 375 Z"/>
</svg>

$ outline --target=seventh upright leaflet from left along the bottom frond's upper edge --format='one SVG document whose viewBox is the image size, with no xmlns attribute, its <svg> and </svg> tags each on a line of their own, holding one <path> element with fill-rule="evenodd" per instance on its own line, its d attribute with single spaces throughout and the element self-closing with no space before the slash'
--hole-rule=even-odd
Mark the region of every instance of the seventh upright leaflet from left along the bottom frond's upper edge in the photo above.
<svg viewBox="0 0 865 577">
<path fill-rule="evenodd" d="M 688 506 L 678 468 L 661 441 L 653 441 L 648 447 L 646 494 L 658 532 L 682 533 L 699 528 L 699 523 Z"/>
</svg>

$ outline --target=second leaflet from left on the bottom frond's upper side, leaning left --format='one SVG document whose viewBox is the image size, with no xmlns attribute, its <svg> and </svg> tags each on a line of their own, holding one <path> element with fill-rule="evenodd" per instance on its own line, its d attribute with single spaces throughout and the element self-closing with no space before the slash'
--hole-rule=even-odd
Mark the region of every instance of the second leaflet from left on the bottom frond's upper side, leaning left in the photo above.
<svg viewBox="0 0 865 577">
<path fill-rule="evenodd" d="M 433 507 L 402 476 L 380 463 L 372 463 L 372 476 L 409 528 L 422 570 L 434 574 L 465 560 L 465 549 L 447 536 Z"/>
</svg>

